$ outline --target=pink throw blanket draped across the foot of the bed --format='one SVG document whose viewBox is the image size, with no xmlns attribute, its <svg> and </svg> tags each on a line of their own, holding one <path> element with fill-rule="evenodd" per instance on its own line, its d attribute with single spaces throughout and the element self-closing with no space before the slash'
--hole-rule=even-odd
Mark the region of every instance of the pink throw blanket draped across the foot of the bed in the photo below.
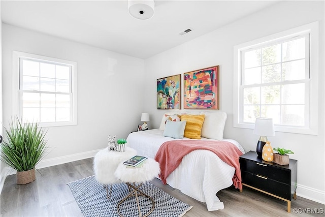
<svg viewBox="0 0 325 217">
<path fill-rule="evenodd" d="M 160 165 L 159 178 L 166 184 L 167 177 L 179 166 L 183 157 L 193 150 L 205 149 L 215 153 L 223 162 L 235 168 L 233 183 L 242 189 L 239 156 L 243 153 L 231 142 L 212 140 L 173 140 L 164 142 L 154 158 Z"/>
</svg>

